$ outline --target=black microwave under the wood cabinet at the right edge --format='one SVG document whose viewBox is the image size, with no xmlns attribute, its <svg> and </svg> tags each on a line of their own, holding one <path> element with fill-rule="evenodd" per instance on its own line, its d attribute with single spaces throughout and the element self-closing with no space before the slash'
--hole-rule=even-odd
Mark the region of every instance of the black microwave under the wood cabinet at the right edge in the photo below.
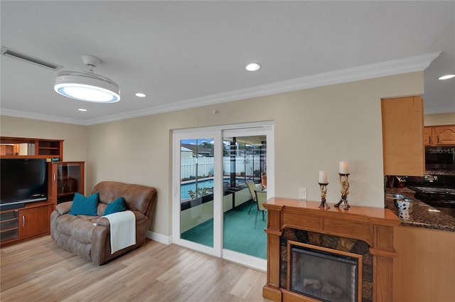
<svg viewBox="0 0 455 302">
<path fill-rule="evenodd" d="M 455 146 L 425 147 L 425 169 L 455 171 Z"/>
</svg>

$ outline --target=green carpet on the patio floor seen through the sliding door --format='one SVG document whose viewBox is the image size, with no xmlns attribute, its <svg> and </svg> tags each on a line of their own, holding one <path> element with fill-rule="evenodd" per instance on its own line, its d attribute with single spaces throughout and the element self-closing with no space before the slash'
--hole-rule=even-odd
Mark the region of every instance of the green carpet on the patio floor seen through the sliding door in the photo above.
<svg viewBox="0 0 455 302">
<path fill-rule="evenodd" d="M 231 251 L 267 259 L 267 234 L 264 232 L 267 227 L 267 214 L 262 220 L 262 212 L 258 212 L 255 228 L 256 204 L 253 205 L 250 215 L 248 215 L 249 208 L 250 202 L 247 202 L 236 207 L 235 210 L 225 212 L 223 247 Z M 183 232 L 181 238 L 213 247 L 213 219 Z"/>
</svg>

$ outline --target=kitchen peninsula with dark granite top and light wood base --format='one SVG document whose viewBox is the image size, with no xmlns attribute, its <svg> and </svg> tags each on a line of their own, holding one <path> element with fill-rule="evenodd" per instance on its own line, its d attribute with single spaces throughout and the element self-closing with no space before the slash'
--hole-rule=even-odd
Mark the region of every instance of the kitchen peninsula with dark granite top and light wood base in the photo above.
<svg viewBox="0 0 455 302">
<path fill-rule="evenodd" d="M 455 217 L 415 198 L 410 188 L 387 188 L 412 203 L 410 219 L 394 228 L 393 301 L 455 301 Z M 395 212 L 393 199 L 385 207 Z"/>
</svg>

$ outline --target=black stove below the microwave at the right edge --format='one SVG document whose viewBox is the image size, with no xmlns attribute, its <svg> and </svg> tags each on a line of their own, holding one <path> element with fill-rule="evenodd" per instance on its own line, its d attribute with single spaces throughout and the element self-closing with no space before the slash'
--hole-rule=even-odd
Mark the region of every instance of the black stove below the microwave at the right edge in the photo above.
<svg viewBox="0 0 455 302">
<path fill-rule="evenodd" d="M 406 186 L 418 200 L 455 217 L 455 176 L 408 178 Z"/>
</svg>

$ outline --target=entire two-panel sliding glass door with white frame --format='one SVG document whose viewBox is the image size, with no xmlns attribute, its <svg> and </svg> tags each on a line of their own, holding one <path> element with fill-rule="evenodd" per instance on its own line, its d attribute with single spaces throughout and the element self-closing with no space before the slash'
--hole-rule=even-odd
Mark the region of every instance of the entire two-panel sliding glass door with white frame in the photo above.
<svg viewBox="0 0 455 302">
<path fill-rule="evenodd" d="M 176 131 L 173 141 L 173 242 L 266 269 L 256 191 L 274 193 L 272 126 Z"/>
</svg>

